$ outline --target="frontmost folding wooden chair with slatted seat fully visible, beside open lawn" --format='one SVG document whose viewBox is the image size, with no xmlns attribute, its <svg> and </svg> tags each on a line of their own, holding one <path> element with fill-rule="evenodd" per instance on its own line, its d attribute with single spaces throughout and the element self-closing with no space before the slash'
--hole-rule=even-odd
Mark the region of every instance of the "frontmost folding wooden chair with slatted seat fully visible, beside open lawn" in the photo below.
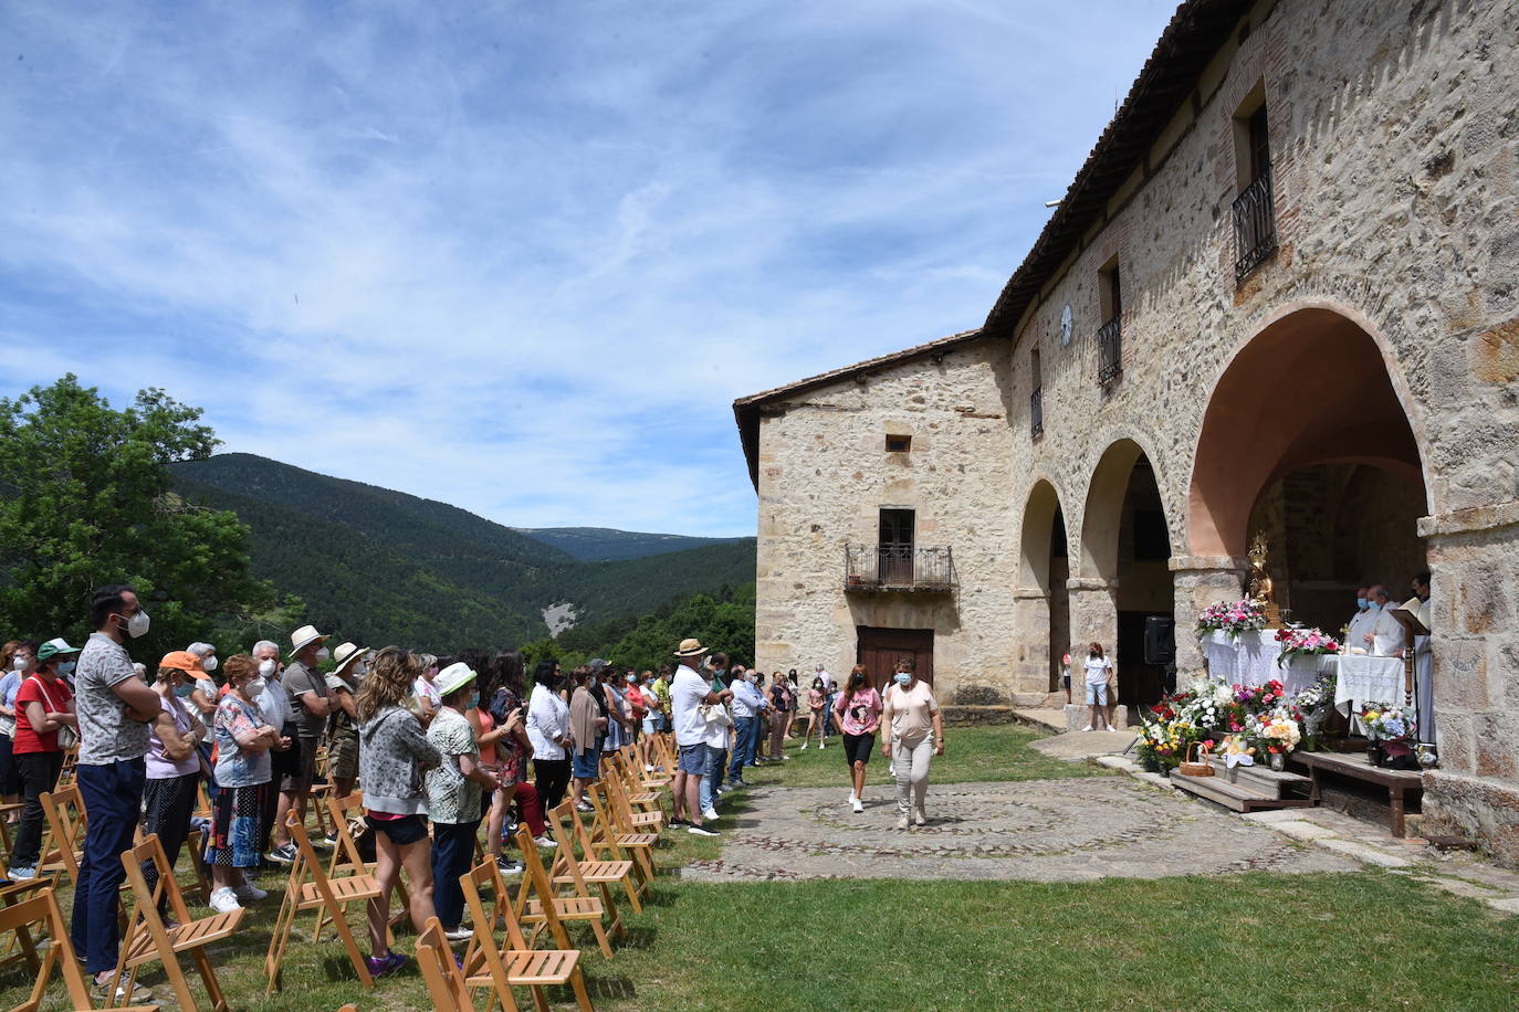
<svg viewBox="0 0 1519 1012">
<path fill-rule="evenodd" d="M 465 983 L 471 988 L 491 988 L 495 991 L 501 1007 L 515 1009 L 512 988 L 530 988 L 533 1004 L 539 1009 L 548 1007 L 544 995 L 545 986 L 568 983 L 574 989 L 576 1001 L 582 1009 L 591 1007 L 591 997 L 585 991 L 585 977 L 580 976 L 580 951 L 574 948 L 536 950 L 523 938 L 523 929 L 512 916 L 512 904 L 504 898 L 504 883 L 494 860 L 483 860 L 459 880 L 463 888 L 465 903 L 469 904 L 469 916 L 474 921 L 474 938 L 469 951 L 465 953 L 463 974 Z M 483 886 L 497 891 L 495 910 L 486 913 L 485 898 L 480 895 Z M 495 944 L 495 916 L 506 921 L 506 947 Z M 485 970 L 485 973 L 478 973 Z"/>
</svg>

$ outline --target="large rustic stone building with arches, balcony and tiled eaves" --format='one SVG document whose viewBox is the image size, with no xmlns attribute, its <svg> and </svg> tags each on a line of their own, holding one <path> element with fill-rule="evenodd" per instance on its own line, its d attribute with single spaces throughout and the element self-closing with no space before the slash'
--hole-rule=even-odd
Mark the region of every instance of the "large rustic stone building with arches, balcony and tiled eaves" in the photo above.
<svg viewBox="0 0 1519 1012">
<path fill-rule="evenodd" d="M 984 323 L 743 398 L 764 668 L 1124 698 L 1434 574 L 1426 819 L 1519 860 L 1519 2 L 1183 3 Z M 983 693 L 984 695 L 984 693 Z"/>
</svg>

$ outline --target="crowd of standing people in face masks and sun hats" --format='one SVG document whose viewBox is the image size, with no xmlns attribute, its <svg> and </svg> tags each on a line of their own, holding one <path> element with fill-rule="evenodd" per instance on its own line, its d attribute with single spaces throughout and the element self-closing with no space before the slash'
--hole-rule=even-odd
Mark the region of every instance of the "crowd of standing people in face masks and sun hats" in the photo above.
<svg viewBox="0 0 1519 1012">
<path fill-rule="evenodd" d="M 538 847 L 554 847 L 545 812 L 567 794 L 576 810 L 591 812 L 586 792 L 605 753 L 632 746 L 653 772 L 652 739 L 670 734 L 677 756 L 670 825 L 717 836 L 723 797 L 746 786 L 746 769 L 784 762 L 804 716 L 794 669 L 766 683 L 763 672 L 694 639 L 659 671 L 618 671 L 597 658 L 565 674 L 559 662 L 541 660 L 524 699 L 516 651 L 436 657 L 351 642 L 330 651 L 333 637 L 304 625 L 287 648 L 260 640 L 223 663 L 213 645 L 190 643 L 147 671 L 128 652 L 150 627 L 131 587 L 96 590 L 88 613 L 94 631 L 79 648 L 61 637 L 3 648 L 0 792 L 24 801 L 9 877 L 32 878 L 41 795 L 76 753 L 88 821 L 70 935 L 97 994 L 115 1001 L 150 998 L 138 986 L 105 994 L 120 944 L 120 854 L 138 830 L 158 836 L 169 866 L 191 833 L 202 833 L 210 904 L 229 912 L 267 898 L 257 885 L 261 869 L 298 859 L 290 821 L 305 822 L 317 783 L 336 798 L 362 789 L 381 889 L 368 909 L 368 968 L 378 977 L 407 959 L 387 942 L 389 898 L 403 871 L 413 926 L 421 932 L 436 915 L 451 941 L 465 941 L 459 878 L 482 825 L 501 872 L 519 874 L 521 862 L 506 851 L 518 824 Z M 866 765 L 884 736 L 898 827 L 907 828 L 927 821 L 930 757 L 943 754 L 945 740 L 930 687 L 911 662 L 896 668 L 881 693 L 864 668 L 838 687 L 817 665 L 802 748 L 814 734 L 819 748 L 843 736 L 849 803 L 863 812 Z M 196 815 L 202 787 L 210 818 Z M 330 848 L 333 836 L 314 842 Z"/>
</svg>

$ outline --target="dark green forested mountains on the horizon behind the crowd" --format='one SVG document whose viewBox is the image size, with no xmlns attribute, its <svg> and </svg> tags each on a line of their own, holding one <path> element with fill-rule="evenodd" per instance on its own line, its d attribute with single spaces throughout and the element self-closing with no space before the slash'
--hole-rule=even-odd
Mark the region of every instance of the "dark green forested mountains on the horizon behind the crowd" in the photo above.
<svg viewBox="0 0 1519 1012">
<path fill-rule="evenodd" d="M 550 634 L 554 605 L 605 622 L 755 578 L 752 537 L 513 530 L 252 454 L 184 461 L 173 475 L 184 499 L 251 528 L 257 577 L 299 596 L 317 628 L 362 643 L 515 646 Z"/>
</svg>

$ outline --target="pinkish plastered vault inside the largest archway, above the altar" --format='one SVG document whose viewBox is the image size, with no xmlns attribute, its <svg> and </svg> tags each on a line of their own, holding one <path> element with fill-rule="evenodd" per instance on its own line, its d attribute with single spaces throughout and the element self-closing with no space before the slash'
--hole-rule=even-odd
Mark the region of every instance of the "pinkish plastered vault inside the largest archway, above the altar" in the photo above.
<svg viewBox="0 0 1519 1012">
<path fill-rule="evenodd" d="M 1396 361 L 1340 306 L 1273 314 L 1214 384 L 1192 455 L 1186 540 L 1194 557 L 1241 557 L 1261 493 L 1312 464 L 1381 467 L 1423 489 L 1425 458 Z"/>
</svg>

